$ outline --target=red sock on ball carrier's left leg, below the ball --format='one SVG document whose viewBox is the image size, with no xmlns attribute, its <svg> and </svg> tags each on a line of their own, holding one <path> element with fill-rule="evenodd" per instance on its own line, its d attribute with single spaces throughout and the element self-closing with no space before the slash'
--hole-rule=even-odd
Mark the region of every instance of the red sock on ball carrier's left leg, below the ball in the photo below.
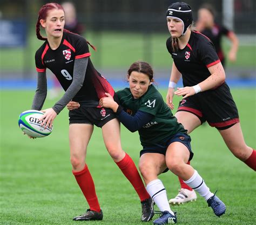
<svg viewBox="0 0 256 225">
<path fill-rule="evenodd" d="M 82 190 L 90 209 L 96 212 L 100 212 L 100 206 L 98 202 L 98 197 L 96 195 L 94 182 L 92 180 L 92 176 L 87 165 L 85 164 L 85 167 L 82 171 L 72 172 L 75 175 L 77 183 Z"/>
</svg>

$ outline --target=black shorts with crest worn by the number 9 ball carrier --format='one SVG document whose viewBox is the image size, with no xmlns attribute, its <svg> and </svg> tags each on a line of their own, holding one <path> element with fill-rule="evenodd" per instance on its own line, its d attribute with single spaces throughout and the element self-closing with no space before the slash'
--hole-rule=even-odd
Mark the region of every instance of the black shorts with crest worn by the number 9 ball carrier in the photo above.
<svg viewBox="0 0 256 225">
<path fill-rule="evenodd" d="M 76 110 L 69 111 L 69 124 L 91 124 L 103 127 L 114 118 L 116 115 L 110 108 L 87 107 L 80 104 Z"/>
</svg>

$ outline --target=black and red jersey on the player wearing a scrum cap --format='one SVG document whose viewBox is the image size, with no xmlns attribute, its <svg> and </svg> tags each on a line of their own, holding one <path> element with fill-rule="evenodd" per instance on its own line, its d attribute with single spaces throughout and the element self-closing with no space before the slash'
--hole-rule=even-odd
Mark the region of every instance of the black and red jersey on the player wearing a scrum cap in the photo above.
<svg viewBox="0 0 256 225">
<path fill-rule="evenodd" d="M 182 74 L 183 85 L 194 86 L 211 76 L 208 67 L 220 62 L 214 45 L 209 38 L 198 31 L 192 31 L 184 49 L 174 52 L 171 37 L 166 47 L 178 71 Z"/>
</svg>

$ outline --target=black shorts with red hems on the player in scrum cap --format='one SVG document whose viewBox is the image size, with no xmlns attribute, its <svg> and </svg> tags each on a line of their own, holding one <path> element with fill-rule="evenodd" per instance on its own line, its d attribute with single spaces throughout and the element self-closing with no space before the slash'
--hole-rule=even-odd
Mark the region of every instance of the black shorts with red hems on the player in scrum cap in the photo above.
<svg viewBox="0 0 256 225">
<path fill-rule="evenodd" d="M 178 111 L 193 113 L 201 124 L 207 121 L 217 129 L 227 129 L 239 122 L 237 106 L 226 83 L 181 100 Z"/>
</svg>

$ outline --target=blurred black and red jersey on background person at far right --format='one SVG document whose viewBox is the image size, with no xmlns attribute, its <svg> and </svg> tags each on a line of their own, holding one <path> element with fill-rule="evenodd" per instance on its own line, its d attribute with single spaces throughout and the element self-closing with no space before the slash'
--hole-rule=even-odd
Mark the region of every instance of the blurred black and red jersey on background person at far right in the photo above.
<svg viewBox="0 0 256 225">
<path fill-rule="evenodd" d="M 221 26 L 219 24 L 214 24 L 211 29 L 206 28 L 203 31 L 201 31 L 201 33 L 203 33 L 203 35 L 205 35 L 211 39 L 211 41 L 214 44 L 214 47 L 217 51 L 220 61 L 222 61 L 224 59 L 224 53 L 221 49 L 221 38 L 223 36 L 228 36 L 228 34 L 230 32 L 231 32 L 230 30 L 228 30 L 227 28 L 225 28 L 224 26 Z"/>
</svg>

